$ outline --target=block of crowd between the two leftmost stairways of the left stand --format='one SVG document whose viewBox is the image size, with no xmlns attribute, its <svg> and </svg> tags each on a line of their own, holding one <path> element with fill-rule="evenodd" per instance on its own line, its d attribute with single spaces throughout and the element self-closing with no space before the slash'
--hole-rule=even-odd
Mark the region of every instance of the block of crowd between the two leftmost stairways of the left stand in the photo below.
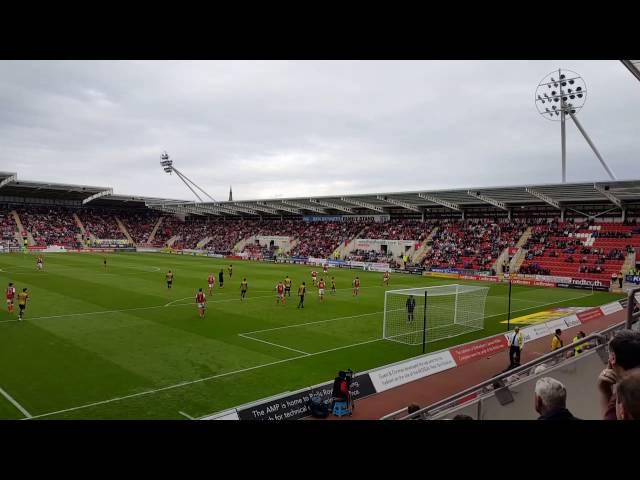
<svg viewBox="0 0 640 480">
<path fill-rule="evenodd" d="M 59 245 L 77 248 L 80 228 L 73 219 L 73 212 L 61 207 L 32 206 L 16 211 L 24 228 L 33 236 L 37 246 Z"/>
</svg>

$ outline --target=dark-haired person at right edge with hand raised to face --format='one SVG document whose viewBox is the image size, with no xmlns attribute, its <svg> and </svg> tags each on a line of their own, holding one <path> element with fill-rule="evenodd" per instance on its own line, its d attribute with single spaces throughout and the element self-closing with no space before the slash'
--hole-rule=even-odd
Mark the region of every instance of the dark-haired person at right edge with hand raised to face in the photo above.
<svg viewBox="0 0 640 480">
<path fill-rule="evenodd" d="M 598 377 L 600 406 L 605 420 L 616 420 L 613 386 L 629 370 L 640 367 L 640 332 L 620 330 L 609 341 L 609 363 Z"/>
</svg>

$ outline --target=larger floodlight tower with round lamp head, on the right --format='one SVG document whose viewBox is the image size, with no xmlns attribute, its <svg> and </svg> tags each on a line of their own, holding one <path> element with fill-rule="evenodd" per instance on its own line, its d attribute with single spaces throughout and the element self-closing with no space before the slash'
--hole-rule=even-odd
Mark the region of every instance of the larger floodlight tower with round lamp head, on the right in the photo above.
<svg viewBox="0 0 640 480">
<path fill-rule="evenodd" d="M 556 78 L 557 77 L 557 80 Z M 576 118 L 576 113 L 584 106 L 587 100 L 587 86 L 580 75 L 571 70 L 558 69 L 549 73 L 538 84 L 535 94 L 535 103 L 538 112 L 548 120 L 560 120 L 560 141 L 562 148 L 562 183 L 567 182 L 567 134 L 566 118 L 569 116 L 578 130 L 587 141 L 593 153 L 602 164 L 609 178 L 615 180 L 616 176 L 600 155 L 600 152 L 587 135 L 582 124 Z M 549 104 L 547 107 L 546 104 Z M 551 107 L 551 108 L 549 108 Z"/>
</svg>

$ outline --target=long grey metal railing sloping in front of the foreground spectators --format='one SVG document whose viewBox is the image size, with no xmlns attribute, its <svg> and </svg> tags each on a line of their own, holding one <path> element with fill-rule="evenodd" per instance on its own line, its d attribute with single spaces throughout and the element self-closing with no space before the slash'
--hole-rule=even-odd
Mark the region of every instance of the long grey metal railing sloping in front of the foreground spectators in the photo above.
<svg viewBox="0 0 640 480">
<path fill-rule="evenodd" d="M 640 291 L 640 289 L 638 289 Z M 617 330 L 621 330 L 627 328 L 627 322 L 620 322 L 616 325 L 612 325 L 601 332 L 592 333 L 584 337 L 583 339 L 571 343 L 567 346 L 554 350 L 553 352 L 549 352 L 541 357 L 536 358 L 535 360 L 530 361 L 529 363 L 525 363 L 519 367 L 513 368 L 506 372 L 503 372 L 495 377 L 492 377 L 484 382 L 481 382 L 477 385 L 469 387 L 461 392 L 458 392 L 450 397 L 447 397 L 443 400 L 440 400 L 434 404 L 429 405 L 428 407 L 424 407 L 416 412 L 411 414 L 407 413 L 407 409 L 403 408 L 401 410 L 389 413 L 381 418 L 381 420 L 412 420 L 412 419 L 422 419 L 428 420 L 430 416 L 441 413 L 444 410 L 448 410 L 457 405 L 462 405 L 460 400 L 464 397 L 468 397 L 472 394 L 493 394 L 494 392 L 508 387 L 510 384 L 515 383 L 516 381 L 520 381 L 523 376 L 529 376 L 533 373 L 533 369 L 541 365 L 542 363 L 549 362 L 550 360 L 554 360 L 553 364 L 560 363 L 566 357 L 566 353 L 569 351 L 573 351 L 575 347 L 579 345 L 591 344 L 595 341 L 596 346 L 595 349 L 603 349 L 607 346 L 609 338 L 612 336 L 614 332 Z M 560 358 L 558 358 L 560 357 Z M 523 375 L 524 374 L 524 375 Z M 508 381 L 507 379 L 512 376 L 517 376 L 513 381 Z M 491 387 L 491 388 L 488 388 Z M 475 397 L 474 397 L 475 399 Z"/>
</svg>

